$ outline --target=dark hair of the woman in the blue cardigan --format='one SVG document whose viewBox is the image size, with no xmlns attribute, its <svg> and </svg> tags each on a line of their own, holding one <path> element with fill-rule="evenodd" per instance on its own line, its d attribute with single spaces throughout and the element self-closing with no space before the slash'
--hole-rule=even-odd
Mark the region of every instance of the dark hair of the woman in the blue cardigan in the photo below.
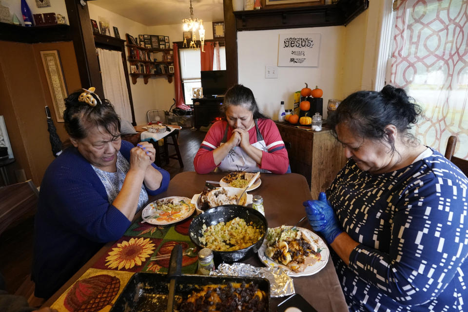
<svg viewBox="0 0 468 312">
<path fill-rule="evenodd" d="M 97 100 L 96 106 L 78 101 L 84 91 L 75 91 L 65 98 L 63 119 L 65 130 L 70 137 L 81 139 L 88 136 L 88 128 L 96 125 L 103 127 L 113 137 L 120 136 L 120 119 L 109 100 L 101 101 L 97 95 L 91 93 Z"/>
</svg>

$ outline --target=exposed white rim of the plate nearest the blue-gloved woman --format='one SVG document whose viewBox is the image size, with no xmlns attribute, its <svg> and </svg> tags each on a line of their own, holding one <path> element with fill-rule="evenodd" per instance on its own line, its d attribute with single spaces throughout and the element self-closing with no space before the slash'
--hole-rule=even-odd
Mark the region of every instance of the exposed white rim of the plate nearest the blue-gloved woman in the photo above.
<svg viewBox="0 0 468 312">
<path fill-rule="evenodd" d="M 322 251 L 320 252 L 322 258 L 320 259 L 320 261 L 317 261 L 315 264 L 308 266 L 307 269 L 305 269 L 303 272 L 295 273 L 287 266 L 279 264 L 273 261 L 272 258 L 269 258 L 265 255 L 265 249 L 267 249 L 267 243 L 268 243 L 266 239 L 263 241 L 262 246 L 258 250 L 258 257 L 260 258 L 260 261 L 262 261 L 263 263 L 265 263 L 265 265 L 269 267 L 281 267 L 287 271 L 289 276 L 292 276 L 292 277 L 313 275 L 317 273 L 318 271 L 322 270 L 327 264 L 328 257 L 330 256 L 330 251 L 328 250 L 327 245 L 322 240 L 322 238 L 320 238 L 320 236 L 313 233 L 312 231 L 308 229 L 300 228 L 300 227 L 297 227 L 297 229 L 308 232 L 314 240 L 315 239 L 318 240 L 318 245 L 322 248 Z"/>
</svg>

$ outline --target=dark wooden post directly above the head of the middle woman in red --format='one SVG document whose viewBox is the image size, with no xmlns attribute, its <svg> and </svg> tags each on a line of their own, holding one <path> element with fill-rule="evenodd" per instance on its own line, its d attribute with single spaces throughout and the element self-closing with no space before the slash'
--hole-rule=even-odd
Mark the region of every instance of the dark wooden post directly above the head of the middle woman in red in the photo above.
<svg viewBox="0 0 468 312">
<path fill-rule="evenodd" d="M 233 1 L 224 0 L 224 39 L 226 41 L 226 74 L 228 87 L 237 84 L 237 29 Z"/>
</svg>

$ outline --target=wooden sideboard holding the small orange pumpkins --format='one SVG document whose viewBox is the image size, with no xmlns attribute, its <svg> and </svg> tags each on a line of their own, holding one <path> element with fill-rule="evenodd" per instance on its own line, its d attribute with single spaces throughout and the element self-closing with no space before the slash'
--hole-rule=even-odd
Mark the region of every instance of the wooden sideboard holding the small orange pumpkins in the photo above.
<svg viewBox="0 0 468 312">
<path fill-rule="evenodd" d="M 312 198 L 317 198 L 346 163 L 341 144 L 326 126 L 322 131 L 306 131 L 275 121 L 288 150 L 291 172 L 306 177 Z"/>
</svg>

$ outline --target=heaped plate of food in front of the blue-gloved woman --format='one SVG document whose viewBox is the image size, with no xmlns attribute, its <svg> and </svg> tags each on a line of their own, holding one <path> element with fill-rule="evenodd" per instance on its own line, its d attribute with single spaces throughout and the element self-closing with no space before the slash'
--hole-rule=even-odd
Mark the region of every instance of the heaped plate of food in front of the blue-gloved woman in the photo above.
<svg viewBox="0 0 468 312">
<path fill-rule="evenodd" d="M 282 225 L 269 228 L 258 250 L 260 260 L 270 267 L 281 267 L 289 276 L 307 276 L 322 270 L 330 251 L 325 242 L 310 230 Z"/>
</svg>

